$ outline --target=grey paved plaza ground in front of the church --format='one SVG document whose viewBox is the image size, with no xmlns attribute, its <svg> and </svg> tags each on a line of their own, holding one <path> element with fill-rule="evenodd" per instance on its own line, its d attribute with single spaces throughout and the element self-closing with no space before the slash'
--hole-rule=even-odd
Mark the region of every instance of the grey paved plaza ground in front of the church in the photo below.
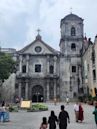
<svg viewBox="0 0 97 129">
<path fill-rule="evenodd" d="M 41 119 L 43 116 L 48 117 L 50 115 L 50 111 L 54 110 L 55 114 L 58 115 L 60 111 L 60 105 L 62 103 L 58 103 L 57 106 L 49 103 L 49 111 L 44 112 L 26 112 L 19 111 L 18 113 L 10 113 L 10 122 L 0 123 L 0 129 L 39 129 Z M 84 122 L 76 123 L 73 111 L 73 105 L 66 105 L 66 110 L 70 115 L 70 124 L 68 124 L 68 129 L 96 129 L 94 123 L 94 116 L 92 115 L 92 111 L 94 110 L 93 106 L 83 105 L 84 108 Z M 58 129 L 58 127 L 57 127 Z"/>
</svg>

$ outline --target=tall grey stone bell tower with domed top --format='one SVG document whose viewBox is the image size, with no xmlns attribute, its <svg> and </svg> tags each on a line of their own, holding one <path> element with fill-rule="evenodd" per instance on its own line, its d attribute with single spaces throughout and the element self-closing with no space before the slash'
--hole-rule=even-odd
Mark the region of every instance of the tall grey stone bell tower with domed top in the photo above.
<svg viewBox="0 0 97 129">
<path fill-rule="evenodd" d="M 65 83 L 68 83 L 68 91 L 65 93 L 72 96 L 72 98 L 78 97 L 82 89 L 81 49 L 83 44 L 83 19 L 71 13 L 61 19 L 60 28 L 60 51 L 64 55 L 64 67 L 68 67 L 66 62 L 69 65 L 68 71 L 64 71 L 63 74 L 68 76 L 68 81 L 62 80 L 64 89 L 66 89 Z"/>
</svg>

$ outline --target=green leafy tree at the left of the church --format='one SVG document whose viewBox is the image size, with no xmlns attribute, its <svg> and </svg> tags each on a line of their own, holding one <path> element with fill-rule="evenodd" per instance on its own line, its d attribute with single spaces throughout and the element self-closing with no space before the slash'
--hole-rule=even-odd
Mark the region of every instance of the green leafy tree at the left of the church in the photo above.
<svg viewBox="0 0 97 129">
<path fill-rule="evenodd" d="M 10 54 L 0 52 L 0 80 L 4 81 L 15 70 L 16 62 Z"/>
</svg>

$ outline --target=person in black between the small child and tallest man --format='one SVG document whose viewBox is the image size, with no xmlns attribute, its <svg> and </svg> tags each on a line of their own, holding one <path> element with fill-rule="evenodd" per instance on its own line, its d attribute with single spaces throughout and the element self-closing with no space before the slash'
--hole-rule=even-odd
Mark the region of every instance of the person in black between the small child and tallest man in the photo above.
<svg viewBox="0 0 97 129">
<path fill-rule="evenodd" d="M 48 119 L 49 129 L 56 129 L 56 122 L 58 123 L 57 116 L 54 111 L 51 111 L 51 115 Z"/>
</svg>

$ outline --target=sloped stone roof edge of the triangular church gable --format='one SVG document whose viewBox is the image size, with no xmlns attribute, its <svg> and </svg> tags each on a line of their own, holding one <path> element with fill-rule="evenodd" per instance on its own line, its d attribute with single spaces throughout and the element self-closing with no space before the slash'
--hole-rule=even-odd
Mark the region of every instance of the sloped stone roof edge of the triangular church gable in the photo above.
<svg viewBox="0 0 97 129">
<path fill-rule="evenodd" d="M 52 53 L 54 54 L 58 54 L 59 51 L 55 50 L 54 48 L 50 47 L 48 44 L 46 44 L 42 39 L 41 36 L 38 34 L 36 36 L 36 39 L 31 42 L 30 44 L 28 44 L 27 46 L 25 46 L 23 49 L 19 50 L 18 53 L 22 54 L 25 50 L 27 50 L 30 46 L 32 46 L 32 44 L 36 43 L 37 41 L 40 41 L 44 46 L 46 46 Z"/>
</svg>

